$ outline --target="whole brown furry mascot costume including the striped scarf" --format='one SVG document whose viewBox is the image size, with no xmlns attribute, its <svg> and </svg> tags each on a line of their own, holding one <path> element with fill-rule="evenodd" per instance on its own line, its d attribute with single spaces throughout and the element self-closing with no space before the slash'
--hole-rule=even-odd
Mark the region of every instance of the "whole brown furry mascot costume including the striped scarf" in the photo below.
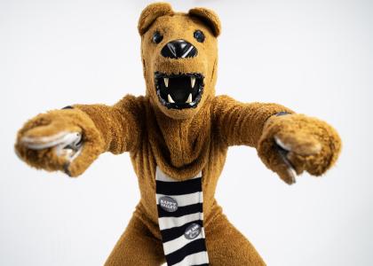
<svg viewBox="0 0 373 266">
<path fill-rule="evenodd" d="M 341 147 L 326 122 L 277 104 L 215 96 L 218 16 L 150 4 L 139 18 L 146 95 L 74 105 L 20 129 L 20 158 L 79 176 L 100 153 L 131 154 L 141 199 L 106 265 L 265 265 L 215 200 L 232 145 L 258 151 L 287 184 L 321 176 Z"/>
</svg>

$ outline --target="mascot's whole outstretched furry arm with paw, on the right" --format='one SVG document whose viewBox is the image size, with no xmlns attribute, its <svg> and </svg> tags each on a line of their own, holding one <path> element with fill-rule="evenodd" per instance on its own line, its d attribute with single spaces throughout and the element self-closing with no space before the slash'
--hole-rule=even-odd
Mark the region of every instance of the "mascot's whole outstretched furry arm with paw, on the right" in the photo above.
<svg viewBox="0 0 373 266">
<path fill-rule="evenodd" d="M 276 104 L 243 104 L 215 98 L 214 123 L 226 145 L 255 147 L 267 168 L 287 184 L 305 170 L 321 176 L 337 160 L 341 140 L 324 121 Z"/>
</svg>

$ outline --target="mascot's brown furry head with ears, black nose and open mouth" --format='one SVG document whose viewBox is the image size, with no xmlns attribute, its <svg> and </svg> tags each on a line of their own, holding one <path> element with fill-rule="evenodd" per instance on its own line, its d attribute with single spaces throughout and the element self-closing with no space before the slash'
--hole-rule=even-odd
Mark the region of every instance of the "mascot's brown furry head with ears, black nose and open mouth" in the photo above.
<svg viewBox="0 0 373 266">
<path fill-rule="evenodd" d="M 147 96 L 173 119 L 194 116 L 215 94 L 220 23 L 204 8 L 148 5 L 139 18 Z"/>
</svg>

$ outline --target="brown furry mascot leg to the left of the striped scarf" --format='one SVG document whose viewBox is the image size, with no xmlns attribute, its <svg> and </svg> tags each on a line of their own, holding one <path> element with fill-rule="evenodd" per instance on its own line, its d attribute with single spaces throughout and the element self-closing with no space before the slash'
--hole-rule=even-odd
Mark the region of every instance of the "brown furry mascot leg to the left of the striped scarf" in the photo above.
<svg viewBox="0 0 373 266">
<path fill-rule="evenodd" d="M 147 226 L 138 217 L 132 216 L 105 266 L 154 266 L 163 262 L 165 259 L 161 240 L 155 239 Z"/>
</svg>

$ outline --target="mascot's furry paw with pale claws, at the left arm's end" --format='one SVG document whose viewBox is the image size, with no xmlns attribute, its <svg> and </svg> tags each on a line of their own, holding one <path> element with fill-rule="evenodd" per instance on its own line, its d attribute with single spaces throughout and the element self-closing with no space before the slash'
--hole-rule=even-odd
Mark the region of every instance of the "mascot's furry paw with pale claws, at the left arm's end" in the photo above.
<svg viewBox="0 0 373 266">
<path fill-rule="evenodd" d="M 99 130 L 77 109 L 42 113 L 20 129 L 15 151 L 35 168 L 79 176 L 103 150 Z"/>
</svg>

